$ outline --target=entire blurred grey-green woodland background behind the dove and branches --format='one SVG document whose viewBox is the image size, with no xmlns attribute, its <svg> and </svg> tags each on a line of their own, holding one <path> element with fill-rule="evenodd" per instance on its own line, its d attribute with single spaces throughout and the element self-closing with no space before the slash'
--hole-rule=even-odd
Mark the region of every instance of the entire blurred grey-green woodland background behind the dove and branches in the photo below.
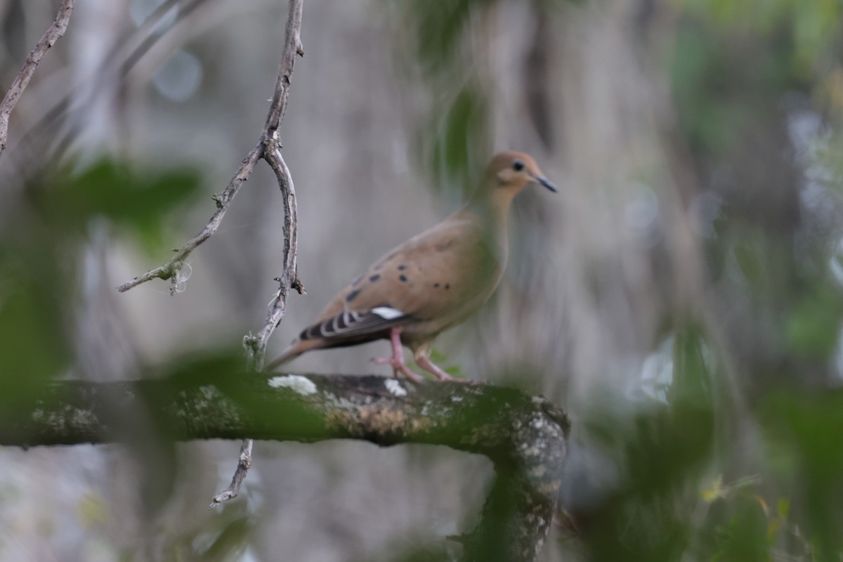
<svg viewBox="0 0 843 562">
<path fill-rule="evenodd" d="M 56 8 L 0 0 L 3 92 Z M 286 13 L 77 0 L 0 157 L 0 406 L 242 353 L 263 325 L 282 201 L 262 164 L 184 291 L 115 286 L 207 222 L 257 141 Z M 841 18 L 838 0 L 306 0 L 282 140 L 308 294 L 270 356 L 492 153 L 524 150 L 561 194 L 519 195 L 502 286 L 437 354 L 572 415 L 540 559 L 839 560 Z M 379 372 L 385 348 L 289 368 Z M 444 448 L 258 442 L 209 511 L 238 447 L 0 450 L 0 559 L 447 559 L 492 476 Z"/>
</svg>

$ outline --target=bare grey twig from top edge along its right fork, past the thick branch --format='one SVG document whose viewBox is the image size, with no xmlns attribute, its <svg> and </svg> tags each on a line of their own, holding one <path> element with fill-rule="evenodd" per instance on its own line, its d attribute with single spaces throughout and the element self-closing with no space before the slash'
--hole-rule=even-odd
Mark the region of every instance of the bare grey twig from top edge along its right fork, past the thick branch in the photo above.
<svg viewBox="0 0 843 562">
<path fill-rule="evenodd" d="M 249 353 L 250 369 L 260 371 L 263 368 L 264 355 L 266 354 L 266 342 L 272 335 L 276 326 L 281 322 L 287 310 L 287 295 L 290 288 L 295 288 L 299 294 L 303 294 L 304 287 L 298 279 L 296 267 L 296 244 L 298 240 L 298 215 L 296 210 L 296 191 L 293 187 L 293 177 L 287 169 L 287 163 L 281 155 L 281 142 L 278 138 L 278 128 L 287 110 L 287 98 L 290 94 L 290 75 L 293 74 L 293 66 L 296 62 L 296 55 L 304 56 L 302 41 L 299 36 L 302 26 L 302 3 L 303 0 L 290 0 L 290 12 L 287 15 L 287 29 L 285 30 L 284 51 L 281 58 L 281 66 L 278 68 L 278 77 L 275 82 L 275 91 L 272 94 L 272 104 L 269 115 L 266 116 L 263 136 L 260 139 L 261 158 L 266 160 L 281 188 L 284 195 L 284 266 L 282 276 L 278 277 L 278 291 L 269 303 L 269 311 L 266 313 L 266 322 L 263 329 L 256 336 L 248 335 L 243 343 Z M 234 196 L 234 195 L 232 195 Z M 240 484 L 246 477 L 246 473 L 252 464 L 251 459 L 252 440 L 244 439 L 240 445 L 240 456 L 234 476 L 228 488 L 215 495 L 211 500 L 211 507 L 218 506 L 223 501 L 231 500 L 240 491 Z"/>
</svg>

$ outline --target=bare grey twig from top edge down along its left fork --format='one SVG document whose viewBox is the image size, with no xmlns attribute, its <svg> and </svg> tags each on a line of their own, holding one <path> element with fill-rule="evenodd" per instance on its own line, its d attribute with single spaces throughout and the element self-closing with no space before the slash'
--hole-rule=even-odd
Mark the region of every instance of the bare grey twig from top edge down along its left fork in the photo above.
<svg viewBox="0 0 843 562">
<path fill-rule="evenodd" d="M 175 252 L 173 257 L 164 265 L 159 265 L 153 270 L 148 270 L 142 276 L 132 278 L 131 281 L 126 281 L 121 286 L 117 287 L 120 292 L 126 292 L 135 286 L 138 286 L 153 279 L 164 279 L 170 281 L 169 292 L 175 295 L 180 289 L 180 270 L 184 267 L 185 261 L 190 256 L 191 252 L 199 245 L 211 238 L 217 232 L 220 223 L 223 221 L 228 206 L 234 200 L 234 196 L 240 190 L 246 179 L 249 179 L 252 170 L 255 169 L 255 164 L 260 158 L 266 158 L 267 148 L 273 142 L 277 141 L 277 130 L 281 126 L 281 121 L 284 112 L 287 110 L 287 97 L 289 96 L 290 76 L 293 74 L 293 65 L 295 63 L 295 56 L 303 56 L 300 39 L 300 29 L 302 24 L 302 3 L 303 0 L 290 0 L 289 15 L 287 17 L 286 40 L 282 54 L 281 66 L 278 70 L 276 79 L 275 92 L 272 96 L 272 103 L 270 110 L 266 116 L 266 125 L 260 133 L 260 142 L 253 148 L 248 156 L 244 158 L 237 173 L 228 183 L 228 186 L 222 193 L 214 195 L 214 201 L 217 203 L 217 211 L 212 215 L 207 225 L 202 228 L 201 232 L 191 238 L 184 246 Z M 275 151 L 272 151 L 275 152 Z M 280 158 L 280 155 L 278 156 Z M 269 160 L 267 160 L 269 162 Z M 285 166 L 286 168 L 286 166 Z M 285 192 L 285 186 L 279 181 L 282 193 Z M 285 197 L 286 198 L 286 197 Z M 287 217 L 285 217 L 285 221 Z M 286 274 L 287 272 L 285 272 Z M 293 279 L 295 275 L 293 274 Z"/>
</svg>

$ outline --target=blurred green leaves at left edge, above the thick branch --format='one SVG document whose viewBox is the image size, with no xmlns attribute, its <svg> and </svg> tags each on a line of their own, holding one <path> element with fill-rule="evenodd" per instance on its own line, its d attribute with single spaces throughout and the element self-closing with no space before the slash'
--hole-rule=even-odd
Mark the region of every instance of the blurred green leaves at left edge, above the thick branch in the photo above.
<svg viewBox="0 0 843 562">
<path fill-rule="evenodd" d="M 90 225 L 105 221 L 152 244 L 167 211 L 198 187 L 195 172 L 139 173 L 106 160 L 30 179 L 26 197 L 0 225 L 0 361 L 11 375 L 0 377 L 0 408 L 21 404 L 72 361 L 71 303 Z"/>
</svg>

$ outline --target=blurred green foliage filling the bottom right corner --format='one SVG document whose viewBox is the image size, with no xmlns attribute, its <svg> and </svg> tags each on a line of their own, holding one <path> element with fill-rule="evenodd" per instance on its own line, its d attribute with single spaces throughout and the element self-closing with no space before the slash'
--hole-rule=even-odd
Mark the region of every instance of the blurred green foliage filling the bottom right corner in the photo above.
<svg viewBox="0 0 843 562">
<path fill-rule="evenodd" d="M 735 428 L 717 420 L 729 413 L 712 391 L 722 373 L 708 349 L 686 330 L 666 403 L 632 415 L 604 403 L 581 420 L 623 468 L 609 495 L 573 513 L 587 559 L 840 559 L 843 394 L 772 391 L 752 413 L 762 452 L 742 459 L 761 474 L 724 484 Z"/>
</svg>

